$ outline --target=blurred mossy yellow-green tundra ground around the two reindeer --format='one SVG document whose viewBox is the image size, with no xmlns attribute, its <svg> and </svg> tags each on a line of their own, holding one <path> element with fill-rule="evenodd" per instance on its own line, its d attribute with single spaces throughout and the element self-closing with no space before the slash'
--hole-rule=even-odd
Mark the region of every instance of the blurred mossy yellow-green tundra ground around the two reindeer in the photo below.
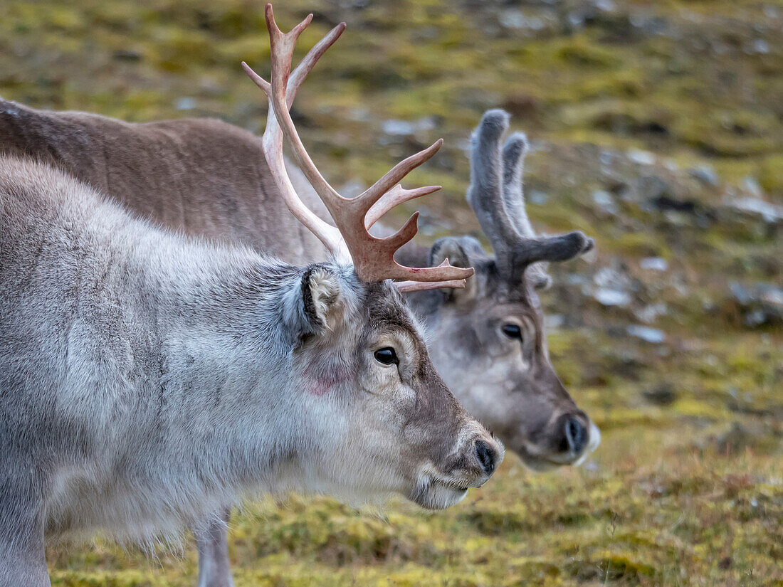
<svg viewBox="0 0 783 587">
<path fill-rule="evenodd" d="M 582 229 L 551 268 L 554 366 L 601 427 L 579 469 L 513 455 L 459 506 L 292 497 L 235 517 L 244 585 L 783 585 L 783 4 L 285 0 L 308 49 L 348 30 L 294 117 L 359 189 L 442 136 L 419 238 L 478 232 L 470 131 L 502 107 L 532 139 L 538 229 Z M 261 134 L 262 2 L 0 3 L 0 95 L 128 121 L 220 117 Z M 413 203 L 408 208 L 422 208 Z M 399 213 L 402 219 L 403 212 Z M 391 218 L 394 221 L 395 218 Z M 192 542 L 150 560 L 52 548 L 55 585 L 195 585 Z"/>
</svg>

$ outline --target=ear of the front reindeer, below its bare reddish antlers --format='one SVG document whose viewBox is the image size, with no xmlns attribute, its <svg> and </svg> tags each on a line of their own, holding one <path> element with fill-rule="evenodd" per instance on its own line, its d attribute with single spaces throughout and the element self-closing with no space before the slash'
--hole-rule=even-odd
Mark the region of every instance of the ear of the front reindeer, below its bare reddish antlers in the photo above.
<svg viewBox="0 0 783 587">
<path fill-rule="evenodd" d="M 291 344 L 298 346 L 311 335 L 334 330 L 344 319 L 348 289 L 344 276 L 326 265 L 305 268 L 283 296 L 281 318 Z"/>
</svg>

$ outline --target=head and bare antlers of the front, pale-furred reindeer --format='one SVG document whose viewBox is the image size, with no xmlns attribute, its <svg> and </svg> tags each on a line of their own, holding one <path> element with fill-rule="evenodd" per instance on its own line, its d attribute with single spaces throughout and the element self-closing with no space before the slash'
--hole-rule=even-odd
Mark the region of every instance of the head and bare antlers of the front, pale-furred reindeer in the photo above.
<svg viewBox="0 0 783 587">
<path fill-rule="evenodd" d="M 473 269 L 452 267 L 447 260 L 436 268 L 398 265 L 394 254 L 416 233 L 416 215 L 388 238 L 368 232 L 397 203 L 438 189 L 406 190 L 398 182 L 441 141 L 396 165 L 365 193 L 350 200 L 340 196 L 305 151 L 289 112 L 305 76 L 345 29 L 345 23 L 335 27 L 291 72 L 294 45 L 311 19 L 283 34 L 267 5 L 271 83 L 243 63 L 269 99 L 262 142 L 280 194 L 335 257 L 307 268 L 301 288 L 281 312 L 299 325 L 292 352 L 301 369 L 294 377 L 301 381 L 307 410 L 316 415 L 310 425 L 323 427 L 319 458 L 308 461 L 316 468 L 310 477 L 317 488 L 333 493 L 395 491 L 424 507 L 450 506 L 489 478 L 503 447 L 468 416 L 435 372 L 400 292 L 464 288 Z M 313 214 L 294 191 L 283 137 L 335 226 Z"/>
</svg>

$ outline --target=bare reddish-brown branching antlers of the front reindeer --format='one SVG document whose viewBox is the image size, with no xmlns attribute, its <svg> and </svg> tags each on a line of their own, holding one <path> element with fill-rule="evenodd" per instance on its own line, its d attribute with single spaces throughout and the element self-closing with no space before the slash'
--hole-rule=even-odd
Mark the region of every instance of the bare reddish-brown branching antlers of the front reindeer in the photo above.
<svg viewBox="0 0 783 587">
<path fill-rule="evenodd" d="M 397 184 L 410 171 L 432 157 L 440 149 L 442 139 L 438 139 L 428 149 L 396 164 L 391 171 L 359 196 L 351 199 L 341 196 L 323 178 L 316 164 L 312 162 L 294 127 L 289 110 L 302 81 L 323 53 L 340 37 L 345 30 L 345 23 L 338 24 L 321 39 L 291 73 L 294 46 L 301 32 L 312 20 L 312 14 L 288 33 L 283 33 L 277 27 L 271 4 L 266 5 L 265 16 L 272 52 L 271 83 L 258 76 L 247 66 L 247 63 L 243 62 L 242 67 L 269 99 L 269 113 L 263 136 L 264 154 L 272 171 L 272 177 L 275 178 L 290 211 L 321 240 L 332 254 L 345 254 L 347 249 L 357 275 L 365 281 L 412 280 L 413 283 L 398 283 L 401 291 L 464 286 L 464 279 L 473 275 L 472 268 L 451 267 L 448 261 L 438 267 L 412 268 L 399 265 L 395 261 L 395 252 L 413 239 L 417 232 L 418 212 L 414 213 L 399 231 L 387 238 L 376 238 L 367 231 L 378 218 L 397 204 L 440 189 L 440 186 L 431 185 L 407 190 Z M 297 196 L 285 169 L 283 135 L 291 148 L 294 160 L 326 205 L 337 228 L 318 218 Z"/>
</svg>

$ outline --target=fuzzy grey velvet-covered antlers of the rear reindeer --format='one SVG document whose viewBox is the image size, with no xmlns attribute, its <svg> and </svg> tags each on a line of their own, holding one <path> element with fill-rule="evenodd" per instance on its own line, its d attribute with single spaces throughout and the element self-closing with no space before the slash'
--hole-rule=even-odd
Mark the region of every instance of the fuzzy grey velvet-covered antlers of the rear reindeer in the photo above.
<svg viewBox="0 0 783 587">
<path fill-rule="evenodd" d="M 503 110 L 489 110 L 474 131 L 467 201 L 493 245 L 500 271 L 518 282 L 529 265 L 539 261 L 567 261 L 593 248 L 595 241 L 579 230 L 557 236 L 536 235 L 522 195 L 527 138 L 515 132 L 506 141 L 502 153 L 500 149 L 508 120 L 509 115 Z"/>
</svg>

